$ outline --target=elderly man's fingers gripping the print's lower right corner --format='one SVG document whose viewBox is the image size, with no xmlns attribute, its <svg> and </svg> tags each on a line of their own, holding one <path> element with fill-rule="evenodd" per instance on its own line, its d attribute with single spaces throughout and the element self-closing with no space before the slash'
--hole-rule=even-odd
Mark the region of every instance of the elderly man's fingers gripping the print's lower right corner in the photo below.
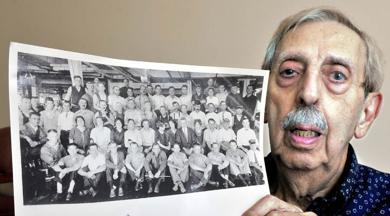
<svg viewBox="0 0 390 216">
<path fill-rule="evenodd" d="M 257 201 L 254 206 L 244 212 L 243 216 L 265 216 L 272 211 L 280 212 L 296 212 L 303 211 L 288 202 L 285 202 L 276 196 L 267 195 Z"/>
</svg>

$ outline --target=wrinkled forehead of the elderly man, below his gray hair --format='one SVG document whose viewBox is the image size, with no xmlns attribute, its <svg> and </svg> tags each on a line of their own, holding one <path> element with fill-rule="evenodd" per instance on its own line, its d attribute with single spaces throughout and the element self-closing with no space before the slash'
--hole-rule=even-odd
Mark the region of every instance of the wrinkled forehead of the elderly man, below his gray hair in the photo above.
<svg viewBox="0 0 390 216">
<path fill-rule="evenodd" d="M 306 22 L 288 31 L 278 43 L 273 65 L 286 59 L 310 63 L 342 64 L 364 72 L 366 47 L 360 36 L 335 21 Z"/>
</svg>

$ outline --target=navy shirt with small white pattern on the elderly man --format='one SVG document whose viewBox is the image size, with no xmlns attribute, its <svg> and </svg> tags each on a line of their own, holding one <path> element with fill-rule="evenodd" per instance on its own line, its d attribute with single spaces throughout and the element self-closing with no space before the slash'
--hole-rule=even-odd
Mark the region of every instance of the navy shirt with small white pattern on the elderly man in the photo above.
<svg viewBox="0 0 390 216">
<path fill-rule="evenodd" d="M 265 157 L 269 184 L 276 179 L 276 164 L 271 154 Z M 340 184 L 329 196 L 315 198 L 306 212 L 329 215 L 390 215 L 390 175 L 357 162 L 351 144 Z"/>
</svg>

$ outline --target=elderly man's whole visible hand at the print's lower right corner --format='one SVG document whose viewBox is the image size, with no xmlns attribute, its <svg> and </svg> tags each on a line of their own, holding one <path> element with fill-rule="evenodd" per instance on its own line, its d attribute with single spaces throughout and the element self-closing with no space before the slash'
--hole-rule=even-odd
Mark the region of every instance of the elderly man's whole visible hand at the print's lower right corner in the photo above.
<svg viewBox="0 0 390 216">
<path fill-rule="evenodd" d="M 267 195 L 261 198 L 242 216 L 316 216 L 312 212 L 303 212 L 297 206 L 285 202 L 276 196 Z"/>
</svg>

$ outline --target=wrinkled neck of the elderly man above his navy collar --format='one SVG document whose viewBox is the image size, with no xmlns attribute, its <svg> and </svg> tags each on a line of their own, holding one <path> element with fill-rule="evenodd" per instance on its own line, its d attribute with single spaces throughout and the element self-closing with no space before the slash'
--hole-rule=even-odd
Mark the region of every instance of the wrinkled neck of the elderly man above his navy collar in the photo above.
<svg viewBox="0 0 390 216">
<path fill-rule="evenodd" d="M 302 210 L 307 209 L 316 197 L 328 196 L 339 183 L 347 152 L 348 146 L 341 160 L 333 158 L 309 171 L 289 168 L 276 157 L 277 174 L 276 181 L 270 185 L 271 194 Z"/>
</svg>

